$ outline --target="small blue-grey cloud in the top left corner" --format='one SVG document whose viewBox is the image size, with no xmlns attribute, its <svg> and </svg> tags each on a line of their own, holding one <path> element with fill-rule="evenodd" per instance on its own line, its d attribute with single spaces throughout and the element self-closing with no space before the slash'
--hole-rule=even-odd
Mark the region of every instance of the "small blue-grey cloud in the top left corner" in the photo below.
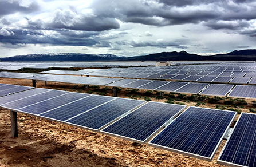
<svg viewBox="0 0 256 167">
<path fill-rule="evenodd" d="M 37 2 L 32 2 L 30 5 L 23 5 L 21 1 L 13 0 L 1 0 L 0 1 L 0 17 L 3 15 L 13 13 L 32 13 L 40 9 Z"/>
</svg>

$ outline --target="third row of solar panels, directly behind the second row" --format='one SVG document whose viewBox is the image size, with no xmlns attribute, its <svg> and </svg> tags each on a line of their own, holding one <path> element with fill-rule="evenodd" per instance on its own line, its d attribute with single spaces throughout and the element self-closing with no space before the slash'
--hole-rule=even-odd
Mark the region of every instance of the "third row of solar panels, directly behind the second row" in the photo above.
<svg viewBox="0 0 256 167">
<path fill-rule="evenodd" d="M 119 69 L 120 70 L 120 69 Z M 214 83 L 232 83 L 232 84 L 256 84 L 256 73 L 210 73 L 200 72 L 198 75 L 193 72 L 186 74 L 186 71 L 143 71 L 148 73 L 122 73 L 122 71 L 112 72 L 108 70 L 104 72 L 102 69 L 86 69 L 80 71 L 60 71 L 50 70 L 44 71 L 42 74 L 69 74 L 69 75 L 89 75 L 98 77 L 122 77 L 122 78 L 142 78 L 142 79 L 168 79 L 171 81 L 191 81 L 191 82 L 214 82 Z M 152 73 L 150 73 L 152 72 Z M 172 74 L 172 72 L 174 74 Z M 154 73 L 154 74 L 153 74 Z M 157 74 L 156 74 L 157 73 Z M 196 72 L 198 73 L 198 72 Z M 186 74 L 186 75 L 184 75 Z M 191 74 L 191 75 L 190 75 Z M 226 76 L 227 75 L 227 76 Z M 231 76 L 230 76 L 231 75 Z M 243 77 L 245 75 L 245 77 Z"/>
</svg>

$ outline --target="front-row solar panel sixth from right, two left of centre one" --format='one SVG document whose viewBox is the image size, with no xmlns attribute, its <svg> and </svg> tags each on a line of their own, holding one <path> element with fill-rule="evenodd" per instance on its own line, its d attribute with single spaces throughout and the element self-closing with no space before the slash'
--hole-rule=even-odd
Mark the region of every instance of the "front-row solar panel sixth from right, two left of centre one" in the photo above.
<svg viewBox="0 0 256 167">
<path fill-rule="evenodd" d="M 68 94 L 63 94 L 62 96 L 51 98 L 50 100 L 42 101 L 34 105 L 27 106 L 25 108 L 19 109 L 21 112 L 26 112 L 30 114 L 41 114 L 48 110 L 57 108 L 59 106 L 68 104 L 70 102 L 76 101 L 80 98 L 88 97 L 89 94 L 84 93 L 74 93 L 69 92 Z"/>
</svg>

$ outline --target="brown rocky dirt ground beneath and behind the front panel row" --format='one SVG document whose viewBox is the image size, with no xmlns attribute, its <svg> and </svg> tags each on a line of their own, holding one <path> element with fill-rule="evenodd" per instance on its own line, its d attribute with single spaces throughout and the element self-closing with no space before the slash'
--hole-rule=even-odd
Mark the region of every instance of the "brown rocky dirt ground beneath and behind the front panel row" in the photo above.
<svg viewBox="0 0 256 167">
<path fill-rule="evenodd" d="M 31 86 L 31 80 L 3 79 L 0 83 Z M 88 92 L 79 85 L 37 82 L 37 88 Z M 76 89 L 77 88 L 77 89 Z M 140 90 L 144 91 L 144 90 Z M 119 97 L 127 97 L 122 89 Z M 145 91 L 144 91 L 145 92 Z M 143 94 L 142 92 L 141 94 Z M 105 96 L 113 96 L 109 90 Z M 164 102 L 166 99 L 151 98 Z M 251 104 L 253 100 L 246 100 Z M 185 102 L 194 106 L 196 102 Z M 200 107 L 215 108 L 216 104 Z M 242 108 L 249 112 L 250 106 Z M 238 116 L 237 116 L 238 118 Z M 0 109 L 0 167 L 4 166 L 222 166 L 216 163 L 225 140 L 211 162 L 141 145 L 120 138 L 18 113 L 18 137 L 11 137 L 10 111 Z"/>
</svg>

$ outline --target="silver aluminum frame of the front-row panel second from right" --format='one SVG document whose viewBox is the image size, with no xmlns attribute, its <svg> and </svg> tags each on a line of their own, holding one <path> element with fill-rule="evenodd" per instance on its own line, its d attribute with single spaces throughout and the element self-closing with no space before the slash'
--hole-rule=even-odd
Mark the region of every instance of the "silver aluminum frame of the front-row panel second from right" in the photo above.
<svg viewBox="0 0 256 167">
<path fill-rule="evenodd" d="M 191 108 L 191 107 L 192 107 L 192 106 L 189 106 L 188 108 Z M 188 108 L 187 108 L 187 109 L 188 109 Z M 200 108 L 200 107 L 198 107 L 198 108 Z M 205 109 L 205 108 L 204 108 L 204 109 Z M 219 110 L 219 109 L 212 109 L 212 110 Z M 225 110 L 225 111 L 226 111 L 226 110 Z M 233 112 L 233 111 L 229 111 L 229 112 Z M 237 112 L 234 112 L 234 113 L 237 113 Z M 204 157 L 204 156 L 200 156 L 200 155 L 197 155 L 197 154 L 193 154 L 193 153 L 184 152 L 184 151 L 178 150 L 178 149 L 168 148 L 168 147 L 166 147 L 166 146 L 160 146 L 160 145 L 157 145 L 157 144 L 152 144 L 150 141 L 148 142 L 148 146 L 152 146 L 152 147 L 155 147 L 155 148 L 167 150 L 167 151 L 174 152 L 174 153 L 178 153 L 178 154 L 183 154 L 184 156 L 194 157 L 194 158 L 198 158 L 198 159 L 200 159 L 200 160 L 204 160 L 204 161 L 209 161 L 209 162 L 210 162 L 210 161 L 212 160 L 212 158 L 214 157 L 214 154 L 216 153 L 216 150 L 219 148 L 219 145 L 220 145 L 220 143 L 222 142 L 223 138 L 225 137 L 227 131 L 230 129 L 230 126 L 231 126 L 232 122 L 234 121 L 234 118 L 235 118 L 236 115 L 237 115 L 237 114 L 234 114 L 234 117 L 233 117 L 232 121 L 230 121 L 229 126 L 227 126 L 227 128 L 226 128 L 226 130 L 225 130 L 225 133 L 223 133 L 221 139 L 219 140 L 218 144 L 216 145 L 216 148 L 215 148 L 214 151 L 212 152 L 210 158 Z M 180 117 L 180 116 L 182 116 L 182 114 L 180 114 L 178 117 Z M 178 117 L 177 117 L 177 118 L 178 118 Z M 176 118 L 175 118 L 175 119 L 176 119 Z M 173 121 L 175 121 L 175 120 L 173 120 Z M 167 126 L 170 126 L 170 125 L 171 125 L 171 123 L 168 124 Z M 167 126 L 166 126 L 166 127 L 167 127 Z M 153 138 L 151 139 L 151 141 L 152 141 L 154 138 L 156 138 L 156 137 L 157 137 L 157 136 L 153 137 Z"/>
</svg>

